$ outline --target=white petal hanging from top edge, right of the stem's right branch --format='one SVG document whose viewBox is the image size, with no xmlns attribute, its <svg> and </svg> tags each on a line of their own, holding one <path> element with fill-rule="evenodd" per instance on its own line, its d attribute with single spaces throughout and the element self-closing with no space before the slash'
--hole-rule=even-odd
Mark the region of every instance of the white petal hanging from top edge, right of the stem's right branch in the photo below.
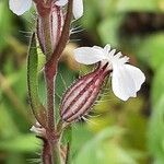
<svg viewBox="0 0 164 164">
<path fill-rule="evenodd" d="M 73 15 L 75 20 L 83 15 L 83 0 L 73 0 Z"/>
</svg>

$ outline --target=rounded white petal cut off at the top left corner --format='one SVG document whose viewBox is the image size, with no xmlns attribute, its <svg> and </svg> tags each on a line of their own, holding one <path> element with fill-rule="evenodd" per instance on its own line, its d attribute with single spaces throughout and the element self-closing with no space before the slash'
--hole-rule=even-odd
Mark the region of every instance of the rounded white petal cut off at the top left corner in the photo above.
<svg viewBox="0 0 164 164">
<path fill-rule="evenodd" d="M 9 7 L 13 13 L 22 15 L 31 9 L 32 0 L 9 0 Z"/>
</svg>

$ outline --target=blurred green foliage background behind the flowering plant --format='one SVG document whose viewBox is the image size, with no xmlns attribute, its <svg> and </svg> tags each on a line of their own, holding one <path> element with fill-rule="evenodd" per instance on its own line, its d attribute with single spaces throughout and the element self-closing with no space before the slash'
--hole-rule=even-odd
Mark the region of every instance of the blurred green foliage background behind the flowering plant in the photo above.
<svg viewBox="0 0 164 164">
<path fill-rule="evenodd" d="M 147 82 L 127 102 L 106 84 L 86 121 L 73 124 L 72 164 L 164 164 L 164 0 L 84 0 L 84 16 L 72 23 L 82 31 L 71 36 L 60 61 L 57 107 L 65 85 L 92 69 L 73 60 L 77 46 L 109 43 L 130 57 Z M 34 17 L 14 15 L 8 0 L 0 0 L 0 164 L 39 163 L 42 142 L 30 131 L 34 118 L 26 87 Z M 39 87 L 45 104 L 42 70 Z"/>
</svg>

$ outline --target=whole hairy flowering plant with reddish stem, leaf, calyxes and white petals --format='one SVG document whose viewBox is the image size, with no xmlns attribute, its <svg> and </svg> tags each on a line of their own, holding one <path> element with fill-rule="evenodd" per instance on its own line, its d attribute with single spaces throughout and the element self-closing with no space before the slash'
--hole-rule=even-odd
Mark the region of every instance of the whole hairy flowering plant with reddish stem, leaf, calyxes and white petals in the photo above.
<svg viewBox="0 0 164 164">
<path fill-rule="evenodd" d="M 30 103 L 36 124 L 32 131 L 43 140 L 42 161 L 44 164 L 71 163 L 69 143 L 61 142 L 63 131 L 72 122 L 85 116 L 98 97 L 104 82 L 112 79 L 114 94 L 127 101 L 136 97 L 145 80 L 143 72 L 128 63 L 129 58 L 116 52 L 109 45 L 80 47 L 74 58 L 83 65 L 96 65 L 95 69 L 78 79 L 62 96 L 59 110 L 55 108 L 55 85 L 58 61 L 67 46 L 71 32 L 71 21 L 83 15 L 82 0 L 9 0 L 10 9 L 17 15 L 34 5 L 36 30 L 33 32 L 27 59 L 27 85 Z M 38 47 L 45 55 L 44 66 L 47 103 L 44 106 L 38 95 Z M 59 113 L 59 118 L 56 114 Z"/>
</svg>

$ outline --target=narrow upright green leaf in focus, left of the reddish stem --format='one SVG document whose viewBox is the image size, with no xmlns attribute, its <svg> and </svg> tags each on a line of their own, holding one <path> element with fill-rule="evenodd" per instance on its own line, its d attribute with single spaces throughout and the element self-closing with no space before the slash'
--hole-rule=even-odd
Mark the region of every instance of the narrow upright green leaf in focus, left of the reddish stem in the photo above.
<svg viewBox="0 0 164 164">
<path fill-rule="evenodd" d="M 45 107 L 39 102 L 38 96 L 38 55 L 36 49 L 36 38 L 35 34 L 32 36 L 32 40 L 30 44 L 28 50 L 28 59 L 27 59 L 27 83 L 28 83 L 28 94 L 30 102 L 33 109 L 33 113 L 39 121 L 39 124 L 45 125 Z"/>
</svg>

